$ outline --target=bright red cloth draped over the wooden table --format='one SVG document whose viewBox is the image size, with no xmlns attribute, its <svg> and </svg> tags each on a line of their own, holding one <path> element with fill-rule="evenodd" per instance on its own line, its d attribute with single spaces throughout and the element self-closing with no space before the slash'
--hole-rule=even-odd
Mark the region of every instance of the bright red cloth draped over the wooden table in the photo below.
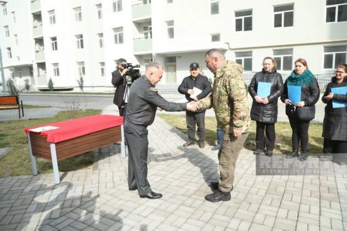
<svg viewBox="0 0 347 231">
<path fill-rule="evenodd" d="M 24 131 L 33 132 L 33 131 L 29 131 L 29 129 L 44 127 L 44 126 L 59 127 L 58 129 L 38 132 L 40 135 L 45 136 L 47 138 L 47 142 L 58 143 L 64 140 L 69 140 L 76 137 L 92 134 L 96 131 L 101 131 L 108 128 L 117 127 L 122 124 L 123 124 L 123 117 L 121 116 L 92 115 L 92 116 L 82 117 L 82 118 L 73 119 L 73 120 L 60 121 L 56 123 L 49 123 L 46 125 L 25 128 Z"/>
</svg>

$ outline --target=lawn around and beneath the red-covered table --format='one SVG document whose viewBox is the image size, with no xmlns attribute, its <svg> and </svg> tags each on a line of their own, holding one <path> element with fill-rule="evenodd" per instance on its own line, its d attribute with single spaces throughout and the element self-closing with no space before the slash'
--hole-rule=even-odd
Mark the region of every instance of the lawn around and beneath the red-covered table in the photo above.
<svg viewBox="0 0 347 231">
<path fill-rule="evenodd" d="M 78 111 L 77 117 L 100 114 L 100 110 Z M 0 122 L 0 148 L 12 147 L 0 159 L 0 177 L 31 175 L 28 140 L 24 128 L 44 125 L 68 119 L 67 111 L 59 112 L 55 117 L 43 119 L 15 120 Z M 75 171 L 90 169 L 94 162 L 94 153 L 88 152 L 58 161 L 59 171 Z M 36 157 L 37 171 L 40 173 L 53 172 L 52 163 Z"/>
</svg>

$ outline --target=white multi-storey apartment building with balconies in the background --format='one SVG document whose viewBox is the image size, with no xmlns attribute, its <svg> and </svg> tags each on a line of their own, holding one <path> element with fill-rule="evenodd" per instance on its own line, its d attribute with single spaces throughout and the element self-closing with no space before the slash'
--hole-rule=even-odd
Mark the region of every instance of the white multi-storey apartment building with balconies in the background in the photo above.
<svg viewBox="0 0 347 231">
<path fill-rule="evenodd" d="M 210 48 L 241 63 L 245 76 L 266 56 L 283 77 L 305 58 L 314 74 L 346 63 L 347 0 L 8 0 L 0 8 L 5 78 L 32 89 L 113 91 L 116 60 L 158 61 L 160 85 L 176 88 Z M 247 74 L 248 73 L 248 74 Z"/>
</svg>

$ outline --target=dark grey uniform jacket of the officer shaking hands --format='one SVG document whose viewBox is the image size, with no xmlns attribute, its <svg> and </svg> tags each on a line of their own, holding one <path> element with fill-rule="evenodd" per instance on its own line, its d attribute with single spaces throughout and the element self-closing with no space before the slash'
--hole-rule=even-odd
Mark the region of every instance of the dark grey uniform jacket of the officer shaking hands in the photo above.
<svg viewBox="0 0 347 231">
<path fill-rule="evenodd" d="M 125 120 L 134 125 L 149 126 L 154 121 L 157 107 L 165 111 L 183 111 L 187 105 L 165 100 L 158 94 L 155 85 L 143 75 L 130 87 Z"/>
</svg>

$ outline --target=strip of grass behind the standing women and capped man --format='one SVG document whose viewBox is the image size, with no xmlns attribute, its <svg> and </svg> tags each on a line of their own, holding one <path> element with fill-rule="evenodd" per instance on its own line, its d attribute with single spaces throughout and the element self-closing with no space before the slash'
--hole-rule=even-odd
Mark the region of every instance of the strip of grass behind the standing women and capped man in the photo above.
<svg viewBox="0 0 347 231">
<path fill-rule="evenodd" d="M 186 126 L 185 115 L 175 114 L 158 114 L 169 125 L 177 128 L 188 136 L 188 129 Z M 255 121 L 251 122 L 251 132 L 244 144 L 244 148 L 248 150 L 255 150 Z M 205 142 L 211 146 L 217 144 L 217 122 L 214 117 L 205 117 L 206 139 Z M 311 123 L 308 129 L 308 151 L 310 153 L 322 153 L 323 151 L 323 138 L 322 138 L 322 124 Z M 291 128 L 289 122 L 277 122 L 275 124 L 276 142 L 274 145 L 274 153 L 287 154 L 291 152 Z M 198 138 L 196 137 L 196 140 Z"/>
</svg>

